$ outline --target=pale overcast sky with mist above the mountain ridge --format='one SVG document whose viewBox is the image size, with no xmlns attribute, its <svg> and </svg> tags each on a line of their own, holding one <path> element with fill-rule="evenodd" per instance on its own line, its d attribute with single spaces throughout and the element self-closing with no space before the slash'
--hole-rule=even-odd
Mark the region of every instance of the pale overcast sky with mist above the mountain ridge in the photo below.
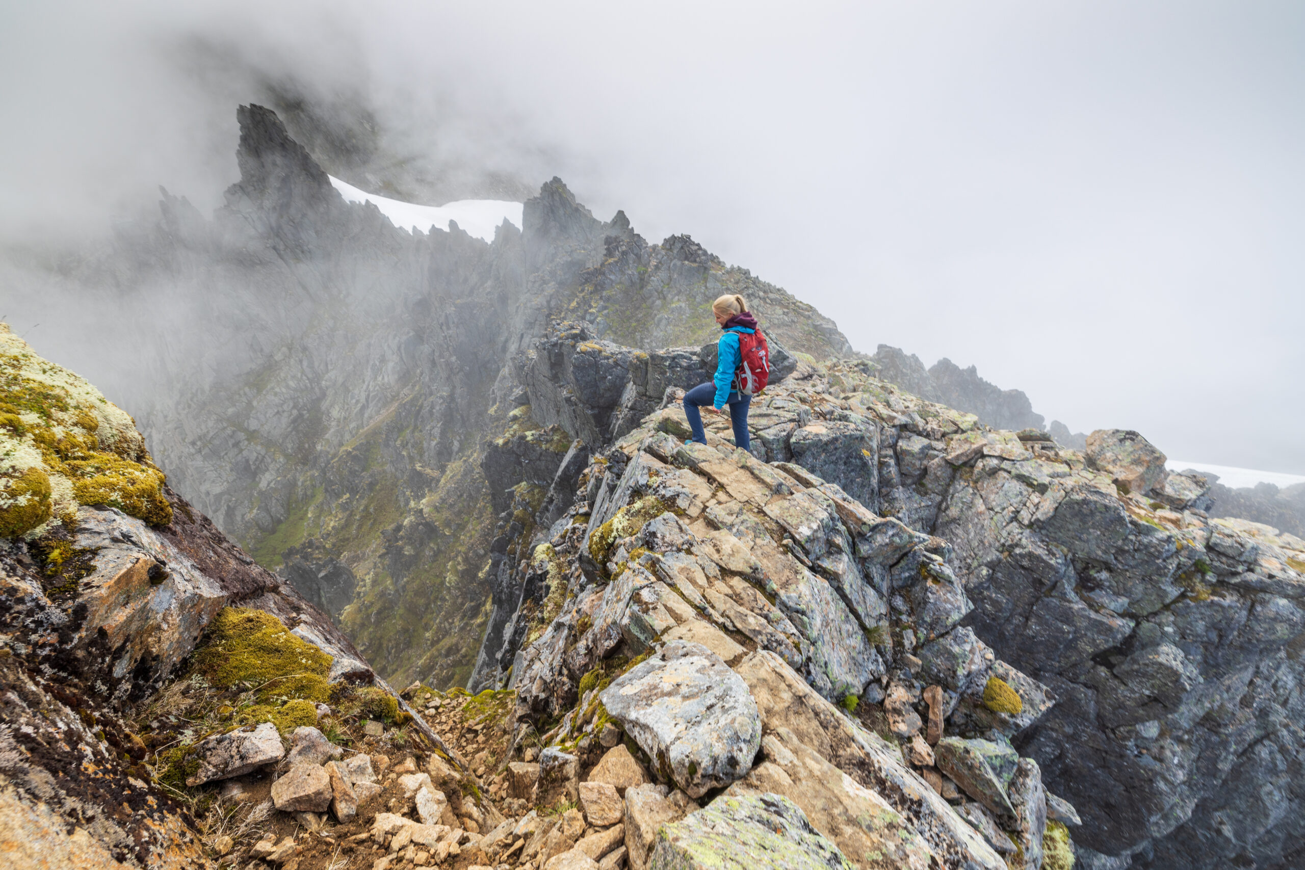
<svg viewBox="0 0 1305 870">
<path fill-rule="evenodd" d="M 0 240 L 158 184 L 217 206 L 248 95 L 196 57 L 224 46 L 688 232 L 857 350 L 1305 473 L 1305 4 L 184 5 L 0 1 Z"/>
</svg>

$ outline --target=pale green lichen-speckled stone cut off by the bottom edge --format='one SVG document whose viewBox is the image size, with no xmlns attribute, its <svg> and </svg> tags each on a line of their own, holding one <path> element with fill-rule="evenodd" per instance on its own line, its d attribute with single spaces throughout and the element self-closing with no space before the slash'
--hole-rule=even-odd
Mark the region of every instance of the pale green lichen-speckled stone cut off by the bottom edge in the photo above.
<svg viewBox="0 0 1305 870">
<path fill-rule="evenodd" d="M 656 839 L 649 870 L 852 870 L 834 843 L 778 794 L 722 796 Z"/>
</svg>

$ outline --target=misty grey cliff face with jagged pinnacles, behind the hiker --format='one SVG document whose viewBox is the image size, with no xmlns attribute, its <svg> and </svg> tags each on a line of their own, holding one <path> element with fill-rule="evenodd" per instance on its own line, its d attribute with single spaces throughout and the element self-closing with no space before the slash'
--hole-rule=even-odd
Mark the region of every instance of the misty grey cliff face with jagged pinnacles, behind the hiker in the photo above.
<svg viewBox="0 0 1305 870">
<path fill-rule="evenodd" d="M 502 489 L 523 480 L 491 488 L 482 463 L 551 317 L 699 342 L 710 300 L 737 291 L 795 350 L 847 351 L 810 307 L 688 237 L 647 244 L 622 214 L 595 219 L 560 180 L 492 243 L 412 235 L 346 203 L 271 111 L 239 120 L 226 206 L 206 219 L 164 196 L 157 226 L 74 278 L 114 275 L 124 320 L 167 325 L 117 386 L 174 487 L 395 681 L 471 676 Z"/>
</svg>

